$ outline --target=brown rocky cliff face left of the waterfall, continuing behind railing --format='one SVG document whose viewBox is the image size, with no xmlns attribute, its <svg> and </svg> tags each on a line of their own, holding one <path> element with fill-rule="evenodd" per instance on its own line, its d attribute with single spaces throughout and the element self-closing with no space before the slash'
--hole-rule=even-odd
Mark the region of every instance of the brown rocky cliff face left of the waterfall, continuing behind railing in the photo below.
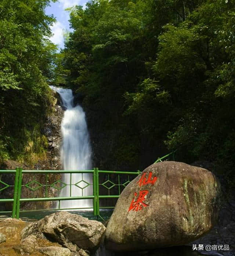
<svg viewBox="0 0 235 256">
<path fill-rule="evenodd" d="M 0 165 L 0 170 L 15 170 L 16 167 L 22 167 L 23 170 L 61 170 L 62 165 L 60 161 L 60 144 L 61 144 L 61 131 L 60 125 L 61 120 L 64 116 L 64 110 L 60 106 L 60 97 L 58 93 L 53 92 L 53 105 L 51 106 L 53 111 L 47 116 L 46 122 L 41 134 L 47 138 L 47 151 L 43 159 L 40 159 L 34 166 L 29 166 L 26 163 L 19 163 L 17 161 L 9 160 L 4 161 Z M 22 179 L 22 191 L 21 198 L 38 198 L 58 196 L 58 191 L 56 188 L 51 186 L 45 186 L 53 184 L 55 181 L 61 179 L 59 174 L 48 174 L 46 179 L 46 174 L 23 174 Z M 1 181 L 5 182 L 12 187 L 8 187 L 0 191 L 1 198 L 13 198 L 14 192 L 14 180 L 15 174 L 5 173 L 1 175 Z M 28 184 L 28 187 L 25 185 Z M 44 186 L 39 187 L 39 184 Z M 57 184 L 58 185 L 58 184 Z M 57 186 L 55 185 L 55 186 Z M 37 188 L 39 187 L 39 188 Z M 58 185 L 59 187 L 59 185 Z M 53 202 L 25 202 L 21 203 L 21 209 L 33 210 L 33 209 L 46 209 L 53 207 Z M 0 205 L 0 210 L 11 210 L 12 203 L 4 203 Z"/>
</svg>

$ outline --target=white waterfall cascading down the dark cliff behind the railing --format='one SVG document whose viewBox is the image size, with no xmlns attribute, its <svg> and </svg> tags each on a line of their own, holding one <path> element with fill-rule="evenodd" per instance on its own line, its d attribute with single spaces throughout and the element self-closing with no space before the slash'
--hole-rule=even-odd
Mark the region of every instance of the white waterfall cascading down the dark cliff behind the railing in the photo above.
<svg viewBox="0 0 235 256">
<path fill-rule="evenodd" d="M 91 170 L 91 146 L 85 113 L 79 105 L 73 106 L 72 90 L 54 86 L 51 88 L 59 93 L 63 107 L 66 109 L 61 123 L 63 168 L 64 170 Z M 63 174 L 62 182 L 72 185 L 66 185 L 61 189 L 61 197 L 92 195 L 92 186 L 87 186 L 92 183 L 92 174 L 72 174 L 72 176 Z M 78 186 L 83 188 L 83 194 L 82 189 Z M 60 204 L 60 208 L 87 207 L 92 207 L 92 199 L 64 200 Z"/>
</svg>

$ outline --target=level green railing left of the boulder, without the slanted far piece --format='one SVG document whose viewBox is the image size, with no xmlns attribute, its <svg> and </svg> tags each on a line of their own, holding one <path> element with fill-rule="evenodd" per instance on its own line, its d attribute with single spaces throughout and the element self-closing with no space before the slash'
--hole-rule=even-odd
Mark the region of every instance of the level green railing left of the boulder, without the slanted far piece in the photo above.
<svg viewBox="0 0 235 256">
<path fill-rule="evenodd" d="M 47 209 L 47 210 L 74 210 L 74 209 L 93 209 L 93 214 L 94 216 L 100 216 L 100 198 L 118 198 L 119 195 L 120 195 L 120 192 L 121 192 L 121 189 L 120 187 L 122 186 L 123 188 L 126 187 L 126 185 L 128 183 L 130 183 L 131 179 L 129 179 L 128 177 L 128 181 L 126 181 L 124 184 L 121 184 L 120 183 L 120 175 L 123 175 L 123 174 L 126 174 L 126 175 L 134 175 L 134 176 L 137 176 L 138 174 L 140 174 L 140 171 L 137 171 L 137 172 L 116 172 L 116 171 L 105 171 L 105 170 L 99 170 L 98 168 L 94 168 L 93 170 L 79 170 L 79 171 L 74 171 L 74 170 L 22 170 L 22 168 L 16 168 L 16 170 L 0 170 L 0 175 L 2 173 L 13 173 L 15 174 L 15 182 L 14 182 L 14 196 L 13 198 L 9 198 L 9 199 L 0 199 L 0 203 L 5 203 L 5 202 L 13 202 L 13 205 L 12 205 L 12 218 L 17 218 L 19 219 L 19 215 L 20 215 L 20 212 L 36 212 L 36 211 L 40 211 L 40 210 L 20 210 L 20 205 L 22 202 L 39 202 L 39 201 L 58 201 L 59 204 L 58 204 L 58 208 L 56 209 Z M 72 178 L 70 178 L 70 183 L 69 184 L 65 184 L 63 183 L 62 181 L 60 180 L 57 180 L 55 181 L 54 183 L 52 184 L 47 184 L 47 180 L 48 180 L 48 174 L 62 174 L 62 173 L 67 173 L 67 174 L 70 174 L 70 177 L 72 177 L 72 174 L 75 174 L 75 173 L 81 173 L 81 174 L 84 174 L 84 173 L 92 173 L 93 174 L 93 183 L 88 183 L 87 181 L 84 181 L 83 178 L 82 180 L 78 181 L 77 183 L 75 184 L 72 184 Z M 105 173 L 105 174 L 108 174 L 108 180 L 106 180 L 104 183 L 100 183 L 100 180 L 99 180 L 99 174 L 100 173 Z M 34 180 L 35 178 L 33 178 L 32 181 L 30 181 L 29 183 L 27 184 L 22 184 L 22 177 L 23 177 L 23 174 L 46 174 L 46 184 L 41 184 L 39 183 L 38 181 Z M 111 180 L 109 180 L 109 174 L 115 174 L 118 176 L 118 183 L 113 183 Z M 87 185 L 85 187 L 79 187 L 77 184 L 80 183 L 81 181 L 87 183 Z M 59 196 L 59 197 L 47 197 L 47 194 L 48 194 L 48 187 L 53 187 L 53 188 L 56 188 L 58 190 L 61 190 L 61 188 L 58 188 L 56 186 L 56 183 L 61 183 L 62 184 L 62 188 L 64 188 L 65 186 L 70 186 L 70 195 L 69 196 L 66 196 L 66 197 L 62 197 L 62 196 Z M 111 182 L 112 186 L 110 187 L 107 187 L 105 185 L 105 183 L 107 182 Z M 0 188 L 0 191 L 8 188 L 8 187 L 13 187 L 13 185 L 8 185 L 7 183 L 5 183 L 4 181 L 1 180 L 0 178 L 0 184 L 3 186 L 2 188 Z M 37 187 L 36 188 L 32 188 L 30 187 L 30 185 L 32 184 L 36 184 Z M 76 187 L 80 190 L 82 190 L 82 196 L 71 196 L 71 188 L 72 186 L 76 185 Z M 83 189 L 86 188 L 87 186 L 92 186 L 93 187 L 93 195 L 90 195 L 90 196 L 84 196 L 83 195 Z M 113 186 L 118 186 L 119 189 L 118 189 L 118 194 L 117 195 L 110 195 L 109 192 L 108 192 L 108 195 L 100 195 L 99 194 L 99 186 L 103 186 L 105 187 L 108 191 L 111 190 L 111 188 Z M 42 187 L 44 187 L 45 189 L 45 197 L 41 197 L 41 198 L 21 198 L 21 191 L 22 191 L 22 188 L 25 187 L 29 190 L 32 190 L 32 191 L 36 191 Z M 93 199 L 93 207 L 92 208 L 61 208 L 60 207 L 60 201 L 63 201 L 63 200 L 80 200 L 80 199 Z M 114 206 L 110 207 L 102 207 L 102 208 L 114 208 Z M 0 212 L 0 213 L 9 213 L 9 212 L 6 212 L 6 211 L 3 211 L 3 212 Z"/>
</svg>

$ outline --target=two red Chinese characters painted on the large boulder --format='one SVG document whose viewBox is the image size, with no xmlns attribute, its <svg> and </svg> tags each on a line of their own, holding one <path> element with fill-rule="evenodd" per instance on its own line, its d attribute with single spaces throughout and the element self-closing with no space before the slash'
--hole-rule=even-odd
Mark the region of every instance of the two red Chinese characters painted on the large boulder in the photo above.
<svg viewBox="0 0 235 256">
<path fill-rule="evenodd" d="M 149 172 L 148 179 L 145 176 L 146 176 L 146 173 L 143 173 L 140 180 L 137 182 L 137 184 L 139 184 L 140 187 L 146 184 L 153 185 L 158 179 L 158 177 L 156 176 L 154 176 L 153 179 L 151 179 L 152 172 Z M 134 198 L 131 201 L 128 212 L 130 212 L 131 210 L 138 212 L 144 209 L 144 207 L 148 206 L 147 203 L 144 203 L 144 200 L 146 199 L 146 195 L 148 194 L 148 192 L 149 192 L 148 190 L 140 190 L 140 194 L 136 201 L 135 201 L 135 197 L 137 196 L 137 193 L 134 192 Z"/>
</svg>

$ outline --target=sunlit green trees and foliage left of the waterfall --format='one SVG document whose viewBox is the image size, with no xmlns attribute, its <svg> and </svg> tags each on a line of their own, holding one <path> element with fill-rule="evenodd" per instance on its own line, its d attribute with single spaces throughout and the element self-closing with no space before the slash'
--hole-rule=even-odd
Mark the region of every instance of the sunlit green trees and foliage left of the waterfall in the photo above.
<svg viewBox="0 0 235 256">
<path fill-rule="evenodd" d="M 47 143 L 40 129 L 56 49 L 47 39 L 54 22 L 44 12 L 49 3 L 0 1 L 0 161 L 32 163 Z"/>
</svg>

